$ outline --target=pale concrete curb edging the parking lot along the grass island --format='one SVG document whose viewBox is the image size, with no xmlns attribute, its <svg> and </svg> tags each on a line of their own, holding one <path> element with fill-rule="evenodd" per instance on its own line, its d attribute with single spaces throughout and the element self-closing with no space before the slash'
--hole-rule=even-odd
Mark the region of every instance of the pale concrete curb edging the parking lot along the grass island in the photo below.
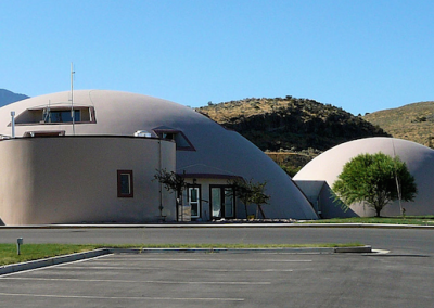
<svg viewBox="0 0 434 308">
<path fill-rule="evenodd" d="M 33 270 L 48 266 L 73 262 L 108 254 L 145 254 L 145 253 L 285 253 L 285 254 L 339 254 L 339 253 L 372 253 L 369 245 L 358 247 L 294 247 L 294 248 L 101 248 L 86 253 L 76 253 L 22 264 L 0 267 L 0 275 L 24 270 Z"/>
</svg>

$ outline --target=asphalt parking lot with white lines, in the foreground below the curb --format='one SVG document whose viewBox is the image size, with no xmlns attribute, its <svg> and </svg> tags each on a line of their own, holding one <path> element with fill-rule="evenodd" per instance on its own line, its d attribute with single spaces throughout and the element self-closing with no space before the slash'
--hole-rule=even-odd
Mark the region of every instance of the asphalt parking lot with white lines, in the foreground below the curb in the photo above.
<svg viewBox="0 0 434 308">
<path fill-rule="evenodd" d="M 115 254 L 5 274 L 0 290 L 3 307 L 432 307 L 434 262 L 391 254 Z"/>
</svg>

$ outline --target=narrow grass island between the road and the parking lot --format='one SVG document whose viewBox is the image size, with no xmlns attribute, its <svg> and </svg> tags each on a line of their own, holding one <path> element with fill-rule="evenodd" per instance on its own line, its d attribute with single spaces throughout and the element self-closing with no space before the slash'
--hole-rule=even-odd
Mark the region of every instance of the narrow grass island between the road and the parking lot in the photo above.
<svg viewBox="0 0 434 308">
<path fill-rule="evenodd" d="M 360 243 L 323 244 L 146 244 L 146 245 L 68 245 L 68 244 L 24 244 L 21 255 L 15 244 L 0 244 L 0 266 L 43 259 L 61 255 L 88 252 L 97 248 L 295 248 L 295 247 L 357 247 Z"/>
</svg>

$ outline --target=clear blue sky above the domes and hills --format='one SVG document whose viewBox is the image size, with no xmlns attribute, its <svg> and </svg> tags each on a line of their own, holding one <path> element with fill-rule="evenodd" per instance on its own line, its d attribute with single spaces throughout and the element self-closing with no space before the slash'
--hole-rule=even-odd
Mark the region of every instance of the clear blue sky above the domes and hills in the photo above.
<svg viewBox="0 0 434 308">
<path fill-rule="evenodd" d="M 191 107 L 292 95 L 357 114 L 434 100 L 432 0 L 0 0 L 0 88 Z"/>
</svg>

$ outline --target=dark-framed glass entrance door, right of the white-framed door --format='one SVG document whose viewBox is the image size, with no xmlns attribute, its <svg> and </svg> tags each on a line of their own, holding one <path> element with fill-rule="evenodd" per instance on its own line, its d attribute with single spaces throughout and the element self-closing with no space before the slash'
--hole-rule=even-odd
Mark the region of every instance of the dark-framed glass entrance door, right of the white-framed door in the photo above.
<svg viewBox="0 0 434 308">
<path fill-rule="evenodd" d="M 210 213 L 213 219 L 235 217 L 235 200 L 231 187 L 210 188 Z"/>
</svg>

